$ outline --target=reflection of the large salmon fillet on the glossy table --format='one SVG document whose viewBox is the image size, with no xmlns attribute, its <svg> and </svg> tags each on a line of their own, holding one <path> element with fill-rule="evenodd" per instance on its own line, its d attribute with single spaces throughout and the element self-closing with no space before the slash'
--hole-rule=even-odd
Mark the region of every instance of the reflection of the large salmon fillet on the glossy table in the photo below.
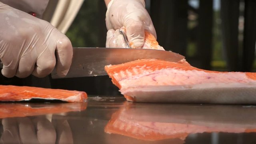
<svg viewBox="0 0 256 144">
<path fill-rule="evenodd" d="M 112 115 L 110 121 L 105 126 L 104 131 L 108 134 L 120 134 L 151 141 L 172 138 L 185 140 L 189 134 L 203 132 L 256 132 L 255 118 L 253 122 L 254 124 L 249 125 L 246 123 L 249 121 L 244 120 L 244 118 L 240 120 L 241 115 L 237 115 L 237 112 L 234 111 L 238 110 L 238 112 L 244 112 L 246 111 L 244 108 L 234 107 L 234 109 L 232 109 L 230 107 L 217 107 L 218 110 L 215 110 L 216 106 L 215 108 L 212 106 L 212 109 L 210 110 L 209 108 L 211 107 L 206 106 L 206 110 L 202 110 L 202 106 L 196 108 L 196 106 L 160 105 L 161 104 L 154 104 L 150 106 L 140 104 L 136 107 L 135 104 L 126 102 L 120 110 Z M 170 108 L 177 108 L 181 114 L 172 112 L 176 110 L 168 109 L 169 106 Z M 201 114 L 200 112 L 193 112 L 195 110 L 210 112 L 212 121 L 208 122 L 207 120 L 204 120 L 204 116 L 206 115 Z M 225 115 L 214 113 L 222 110 L 224 110 L 223 114 L 225 112 L 231 113 L 226 113 Z M 253 111 L 255 113 L 255 110 Z M 182 115 L 190 112 L 192 112 L 192 114 L 189 114 L 188 117 Z M 250 112 L 245 113 L 246 114 L 242 115 L 250 115 Z M 230 116 L 230 118 L 228 118 L 227 115 Z M 232 122 L 232 118 L 235 119 L 233 120 L 234 122 Z"/>
</svg>

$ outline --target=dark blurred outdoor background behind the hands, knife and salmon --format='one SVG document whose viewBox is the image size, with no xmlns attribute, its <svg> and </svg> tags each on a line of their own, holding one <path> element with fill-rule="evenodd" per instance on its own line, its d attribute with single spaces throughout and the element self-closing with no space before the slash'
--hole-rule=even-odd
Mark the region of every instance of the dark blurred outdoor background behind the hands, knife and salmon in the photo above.
<svg viewBox="0 0 256 144">
<path fill-rule="evenodd" d="M 195 67 L 256 72 L 255 0 L 146 0 L 157 40 Z M 105 47 L 104 0 L 85 0 L 66 33 L 74 47 Z M 54 88 L 119 94 L 108 76 L 52 80 Z"/>
</svg>

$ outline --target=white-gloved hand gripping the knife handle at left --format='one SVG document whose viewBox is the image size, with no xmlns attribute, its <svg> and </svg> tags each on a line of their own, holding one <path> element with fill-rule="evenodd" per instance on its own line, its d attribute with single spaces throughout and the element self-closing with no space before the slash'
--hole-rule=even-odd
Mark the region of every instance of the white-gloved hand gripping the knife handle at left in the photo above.
<svg viewBox="0 0 256 144">
<path fill-rule="evenodd" d="M 70 40 L 50 23 L 0 2 L 0 60 L 4 76 L 44 77 L 55 65 L 58 75 L 65 76 L 72 55 Z"/>
</svg>

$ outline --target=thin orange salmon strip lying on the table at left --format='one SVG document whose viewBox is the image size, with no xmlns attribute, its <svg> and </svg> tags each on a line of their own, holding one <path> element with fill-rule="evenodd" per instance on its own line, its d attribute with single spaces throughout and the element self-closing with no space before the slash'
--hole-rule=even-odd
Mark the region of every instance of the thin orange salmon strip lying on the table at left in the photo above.
<svg viewBox="0 0 256 144">
<path fill-rule="evenodd" d="M 76 90 L 0 85 L 0 101 L 2 102 L 31 100 L 32 98 L 84 102 L 87 99 L 87 94 Z"/>
</svg>

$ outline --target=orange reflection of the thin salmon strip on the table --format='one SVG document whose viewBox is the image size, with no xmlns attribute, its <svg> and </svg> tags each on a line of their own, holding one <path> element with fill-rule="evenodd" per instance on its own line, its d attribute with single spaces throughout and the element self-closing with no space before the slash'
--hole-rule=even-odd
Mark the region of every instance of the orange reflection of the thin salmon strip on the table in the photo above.
<svg viewBox="0 0 256 144">
<path fill-rule="evenodd" d="M 86 102 L 61 104 L 0 104 L 0 118 L 14 118 L 24 116 L 38 116 L 62 112 L 76 112 L 85 110 Z"/>
</svg>

